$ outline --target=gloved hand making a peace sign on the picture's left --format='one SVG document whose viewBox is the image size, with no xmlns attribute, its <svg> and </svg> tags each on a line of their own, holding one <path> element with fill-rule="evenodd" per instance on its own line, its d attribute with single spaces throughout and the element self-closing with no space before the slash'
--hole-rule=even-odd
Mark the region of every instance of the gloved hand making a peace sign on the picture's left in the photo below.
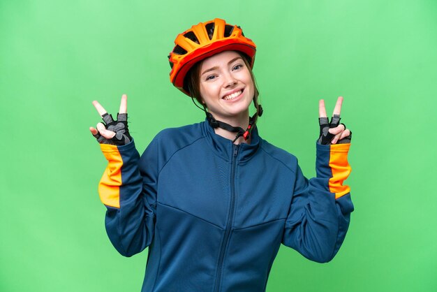
<svg viewBox="0 0 437 292">
<path fill-rule="evenodd" d="M 120 109 L 115 121 L 112 119 L 112 115 L 108 114 L 98 101 L 93 101 L 93 105 L 102 117 L 103 122 L 105 122 L 105 124 L 98 123 L 97 129 L 92 126 L 89 127 L 89 131 L 91 131 L 91 134 L 97 139 L 98 143 L 125 145 L 133 140 L 128 131 L 128 96 L 126 94 L 121 96 Z"/>
</svg>

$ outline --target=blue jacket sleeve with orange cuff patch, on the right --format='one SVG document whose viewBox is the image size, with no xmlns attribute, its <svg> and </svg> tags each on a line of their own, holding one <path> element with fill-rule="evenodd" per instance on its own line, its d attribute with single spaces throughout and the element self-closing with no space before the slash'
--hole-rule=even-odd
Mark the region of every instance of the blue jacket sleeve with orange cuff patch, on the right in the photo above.
<svg viewBox="0 0 437 292">
<path fill-rule="evenodd" d="M 316 147 L 316 177 L 307 180 L 297 166 L 282 243 L 325 263 L 339 251 L 353 212 L 350 188 L 343 185 L 350 174 L 350 144 Z"/>
</svg>

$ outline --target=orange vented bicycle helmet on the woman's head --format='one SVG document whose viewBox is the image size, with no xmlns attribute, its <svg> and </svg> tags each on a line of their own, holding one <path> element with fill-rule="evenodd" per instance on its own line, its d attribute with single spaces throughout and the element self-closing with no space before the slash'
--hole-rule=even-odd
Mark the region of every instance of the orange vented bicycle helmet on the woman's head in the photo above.
<svg viewBox="0 0 437 292">
<path fill-rule="evenodd" d="M 184 87 L 186 73 L 198 61 L 225 50 L 243 52 L 253 66 L 256 45 L 244 36 L 240 27 L 227 24 L 219 18 L 193 25 L 191 29 L 177 35 L 175 48 L 168 56 L 172 67 L 170 82 L 190 96 L 188 88 Z"/>
</svg>

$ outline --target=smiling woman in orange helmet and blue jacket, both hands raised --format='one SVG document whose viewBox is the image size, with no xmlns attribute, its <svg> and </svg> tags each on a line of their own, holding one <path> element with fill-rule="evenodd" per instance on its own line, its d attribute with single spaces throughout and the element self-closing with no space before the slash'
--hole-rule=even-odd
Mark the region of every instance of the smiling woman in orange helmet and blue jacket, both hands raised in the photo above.
<svg viewBox="0 0 437 292">
<path fill-rule="evenodd" d="M 90 128 L 109 162 L 99 184 L 108 236 L 124 256 L 149 247 L 142 291 L 265 291 L 281 243 L 330 261 L 353 211 L 343 98 L 330 122 L 319 103 L 317 176 L 307 180 L 295 156 L 258 134 L 255 44 L 242 29 L 215 19 L 175 44 L 170 80 L 205 122 L 161 131 L 140 156 L 124 95 L 117 121 L 94 101 L 105 124 Z"/>
</svg>

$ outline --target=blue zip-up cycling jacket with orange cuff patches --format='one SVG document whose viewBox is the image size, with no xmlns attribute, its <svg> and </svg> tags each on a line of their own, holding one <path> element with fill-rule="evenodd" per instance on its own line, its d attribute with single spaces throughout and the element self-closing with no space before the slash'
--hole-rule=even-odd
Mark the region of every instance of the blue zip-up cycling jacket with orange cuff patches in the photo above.
<svg viewBox="0 0 437 292">
<path fill-rule="evenodd" d="M 353 204 L 349 144 L 316 145 L 317 177 L 253 131 L 233 145 L 201 122 L 134 143 L 101 145 L 105 225 L 124 256 L 149 247 L 142 291 L 265 291 L 280 244 L 330 261 Z"/>
</svg>

